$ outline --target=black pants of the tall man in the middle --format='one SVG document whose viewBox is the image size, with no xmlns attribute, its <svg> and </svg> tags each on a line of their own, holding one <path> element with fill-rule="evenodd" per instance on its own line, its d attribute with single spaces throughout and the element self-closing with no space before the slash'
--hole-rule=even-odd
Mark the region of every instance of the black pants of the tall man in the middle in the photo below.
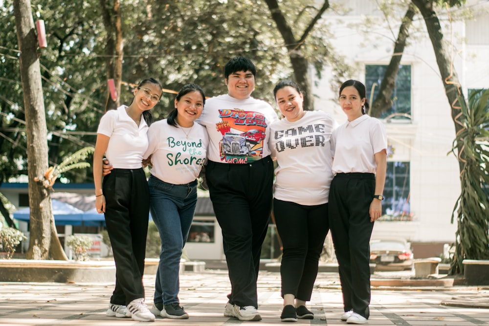
<svg viewBox="0 0 489 326">
<path fill-rule="evenodd" d="M 272 205 L 272 160 L 267 156 L 248 164 L 210 161 L 205 176 L 222 229 L 229 302 L 258 307 L 256 281 Z"/>
</svg>

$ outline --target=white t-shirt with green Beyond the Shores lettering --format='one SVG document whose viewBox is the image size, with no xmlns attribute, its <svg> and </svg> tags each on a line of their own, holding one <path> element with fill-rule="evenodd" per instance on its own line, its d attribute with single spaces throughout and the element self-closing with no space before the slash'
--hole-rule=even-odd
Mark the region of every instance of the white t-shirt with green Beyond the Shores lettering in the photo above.
<svg viewBox="0 0 489 326">
<path fill-rule="evenodd" d="M 194 181 L 207 154 L 208 137 L 203 126 L 170 126 L 167 119 L 153 123 L 148 130 L 149 146 L 144 158 L 153 154 L 150 173 L 158 179 L 185 184 Z"/>
</svg>

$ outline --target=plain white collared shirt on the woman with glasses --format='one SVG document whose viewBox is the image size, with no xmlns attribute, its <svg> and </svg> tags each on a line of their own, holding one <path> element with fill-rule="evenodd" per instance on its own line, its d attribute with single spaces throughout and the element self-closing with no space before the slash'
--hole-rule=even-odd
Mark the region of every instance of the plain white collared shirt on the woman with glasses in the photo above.
<svg viewBox="0 0 489 326">
<path fill-rule="evenodd" d="M 117 110 L 107 111 L 100 119 L 97 133 L 111 138 L 106 155 L 115 169 L 139 169 L 148 148 L 148 125 L 141 114 L 141 122 L 137 126 L 126 108 L 123 105 Z"/>
</svg>

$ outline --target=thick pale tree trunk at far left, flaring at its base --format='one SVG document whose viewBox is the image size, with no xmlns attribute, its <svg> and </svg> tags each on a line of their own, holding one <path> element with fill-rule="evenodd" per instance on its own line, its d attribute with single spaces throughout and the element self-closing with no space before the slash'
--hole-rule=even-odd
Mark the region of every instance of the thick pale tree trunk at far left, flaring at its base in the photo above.
<svg viewBox="0 0 489 326">
<path fill-rule="evenodd" d="M 30 241 L 27 259 L 67 260 L 54 225 L 51 199 L 38 178 L 47 170 L 47 128 L 41 68 L 30 0 L 14 0 L 27 135 Z"/>
</svg>

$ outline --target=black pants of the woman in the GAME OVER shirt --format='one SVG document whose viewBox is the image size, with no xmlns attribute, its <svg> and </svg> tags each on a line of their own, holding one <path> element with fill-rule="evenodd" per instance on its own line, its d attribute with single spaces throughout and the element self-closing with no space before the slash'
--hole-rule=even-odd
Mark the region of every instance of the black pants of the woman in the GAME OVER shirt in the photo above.
<svg viewBox="0 0 489 326">
<path fill-rule="evenodd" d="M 328 234 L 328 203 L 306 206 L 273 199 L 277 232 L 282 239 L 280 264 L 282 297 L 310 301 L 317 276 L 319 256 Z"/>
</svg>

